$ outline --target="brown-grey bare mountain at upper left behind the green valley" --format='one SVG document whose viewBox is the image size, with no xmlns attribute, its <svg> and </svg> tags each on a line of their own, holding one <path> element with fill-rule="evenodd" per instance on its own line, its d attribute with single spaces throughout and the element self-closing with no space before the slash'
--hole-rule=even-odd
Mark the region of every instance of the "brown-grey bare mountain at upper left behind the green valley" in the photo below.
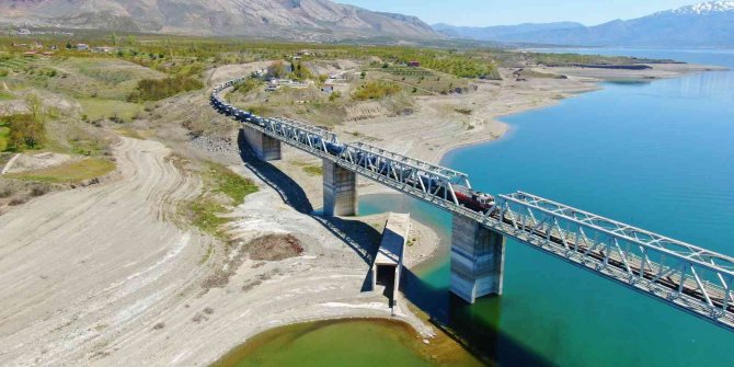
<svg viewBox="0 0 734 367">
<path fill-rule="evenodd" d="M 415 16 L 329 0 L 0 0 L 0 23 L 286 38 L 438 38 Z"/>
</svg>

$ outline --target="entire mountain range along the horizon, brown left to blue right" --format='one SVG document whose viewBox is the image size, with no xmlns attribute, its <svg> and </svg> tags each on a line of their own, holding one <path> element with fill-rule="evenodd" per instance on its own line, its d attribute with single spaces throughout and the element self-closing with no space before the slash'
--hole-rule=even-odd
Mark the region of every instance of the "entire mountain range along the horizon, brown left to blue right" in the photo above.
<svg viewBox="0 0 734 367">
<path fill-rule="evenodd" d="M 330 0 L 0 0 L 0 24 L 300 41 L 465 38 L 567 46 L 734 46 L 734 1 L 633 20 L 470 27 Z"/>
</svg>

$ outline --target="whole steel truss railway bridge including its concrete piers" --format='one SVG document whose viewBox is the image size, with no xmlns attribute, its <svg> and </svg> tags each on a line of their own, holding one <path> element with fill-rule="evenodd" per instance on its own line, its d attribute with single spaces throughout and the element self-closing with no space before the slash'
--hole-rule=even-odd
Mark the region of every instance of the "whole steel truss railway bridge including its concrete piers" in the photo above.
<svg viewBox="0 0 734 367">
<path fill-rule="evenodd" d="M 498 195 L 486 214 L 471 210 L 456 194 L 458 186 L 471 188 L 467 174 L 364 142 L 340 144 L 335 134 L 297 121 L 239 110 L 220 94 L 242 80 L 216 88 L 211 104 L 243 123 L 261 159 L 279 159 L 280 144 L 321 158 L 325 215 L 356 215 L 357 174 L 451 213 L 450 289 L 465 300 L 502 294 L 505 239 L 513 238 L 734 331 L 734 257 L 524 192 Z M 330 145 L 343 149 L 330 151 Z"/>
</svg>

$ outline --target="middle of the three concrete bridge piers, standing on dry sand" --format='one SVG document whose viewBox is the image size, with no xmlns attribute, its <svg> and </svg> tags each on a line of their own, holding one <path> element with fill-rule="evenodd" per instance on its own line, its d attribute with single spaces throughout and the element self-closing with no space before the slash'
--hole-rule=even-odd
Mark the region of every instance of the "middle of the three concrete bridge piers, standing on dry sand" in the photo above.
<svg viewBox="0 0 734 367">
<path fill-rule="evenodd" d="M 356 216 L 357 174 L 336 163 L 323 160 L 323 214 L 333 216 Z"/>
</svg>

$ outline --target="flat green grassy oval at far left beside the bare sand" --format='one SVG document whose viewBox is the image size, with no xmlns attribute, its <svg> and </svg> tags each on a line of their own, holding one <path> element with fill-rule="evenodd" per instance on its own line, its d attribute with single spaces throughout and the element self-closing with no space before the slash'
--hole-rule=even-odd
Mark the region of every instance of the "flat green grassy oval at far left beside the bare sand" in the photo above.
<svg viewBox="0 0 734 367">
<path fill-rule="evenodd" d="M 44 170 L 8 174 L 8 176 L 27 181 L 76 183 L 105 175 L 114 169 L 115 163 L 106 159 L 87 158 Z"/>
</svg>

